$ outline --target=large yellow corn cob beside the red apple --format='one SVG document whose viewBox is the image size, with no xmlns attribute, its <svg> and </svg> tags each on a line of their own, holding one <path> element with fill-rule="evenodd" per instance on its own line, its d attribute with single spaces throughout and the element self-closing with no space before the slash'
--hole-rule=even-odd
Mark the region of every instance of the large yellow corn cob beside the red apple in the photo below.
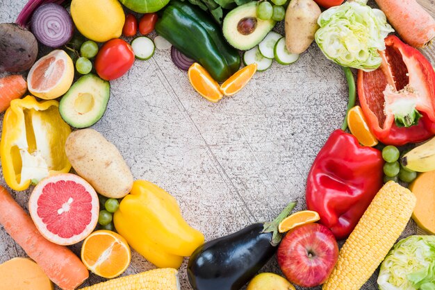
<svg viewBox="0 0 435 290">
<path fill-rule="evenodd" d="M 360 289 L 403 232 L 415 206 L 409 189 L 387 182 L 347 238 L 322 289 Z"/>
</svg>

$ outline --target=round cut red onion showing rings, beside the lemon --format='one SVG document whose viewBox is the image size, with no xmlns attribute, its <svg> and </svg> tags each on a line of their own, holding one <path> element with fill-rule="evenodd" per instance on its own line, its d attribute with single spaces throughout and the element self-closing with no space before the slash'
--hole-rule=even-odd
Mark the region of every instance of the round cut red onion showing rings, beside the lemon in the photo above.
<svg viewBox="0 0 435 290">
<path fill-rule="evenodd" d="M 59 47 L 71 40 L 74 24 L 65 8 L 49 3 L 35 10 L 31 19 L 31 30 L 42 44 Z"/>
</svg>

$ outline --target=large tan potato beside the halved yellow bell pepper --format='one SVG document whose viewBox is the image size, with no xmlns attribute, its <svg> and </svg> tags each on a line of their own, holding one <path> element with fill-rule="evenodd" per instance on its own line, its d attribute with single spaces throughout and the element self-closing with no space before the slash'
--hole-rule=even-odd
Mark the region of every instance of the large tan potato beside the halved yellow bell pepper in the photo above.
<svg viewBox="0 0 435 290">
<path fill-rule="evenodd" d="M 133 187 L 133 176 L 120 151 L 93 129 L 76 130 L 65 143 L 65 152 L 79 176 L 109 198 L 122 198 Z"/>
</svg>

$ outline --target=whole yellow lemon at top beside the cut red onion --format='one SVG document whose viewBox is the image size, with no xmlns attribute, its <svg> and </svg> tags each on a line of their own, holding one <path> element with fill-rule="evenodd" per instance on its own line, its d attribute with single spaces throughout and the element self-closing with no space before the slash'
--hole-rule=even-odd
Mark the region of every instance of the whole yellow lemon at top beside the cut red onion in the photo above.
<svg viewBox="0 0 435 290">
<path fill-rule="evenodd" d="M 120 37 L 125 22 L 118 0 L 72 0 L 71 16 L 80 33 L 96 42 Z"/>
</svg>

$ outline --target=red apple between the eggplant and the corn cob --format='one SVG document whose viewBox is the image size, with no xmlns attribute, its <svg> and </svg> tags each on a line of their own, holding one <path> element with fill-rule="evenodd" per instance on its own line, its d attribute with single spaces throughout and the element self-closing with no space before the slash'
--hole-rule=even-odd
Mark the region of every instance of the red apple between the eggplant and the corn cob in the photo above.
<svg viewBox="0 0 435 290">
<path fill-rule="evenodd" d="M 337 241 L 325 225 L 301 225 L 290 230 L 281 241 L 277 259 L 290 282 L 315 287 L 327 280 L 337 262 Z"/>
</svg>

